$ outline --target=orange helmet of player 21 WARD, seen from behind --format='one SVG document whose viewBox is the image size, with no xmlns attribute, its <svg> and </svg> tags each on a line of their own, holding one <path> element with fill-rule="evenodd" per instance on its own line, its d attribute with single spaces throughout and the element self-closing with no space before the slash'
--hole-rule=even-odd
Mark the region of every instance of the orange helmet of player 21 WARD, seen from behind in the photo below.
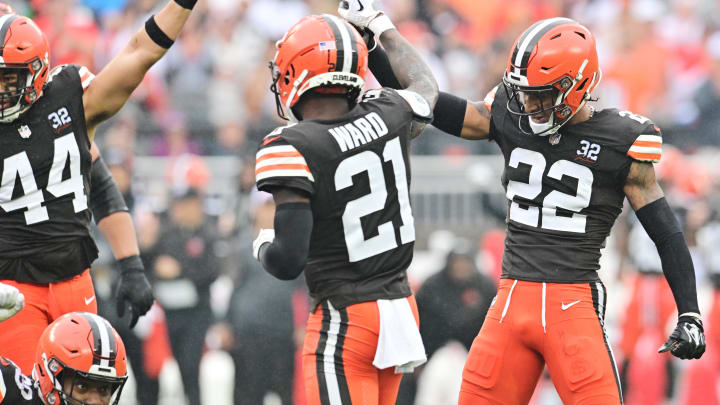
<svg viewBox="0 0 720 405">
<path fill-rule="evenodd" d="M 359 96 L 368 50 L 360 34 L 343 19 L 329 14 L 307 16 L 276 47 L 270 62 L 270 91 L 281 118 L 298 121 L 292 108 L 311 89 L 346 94 L 351 101 Z"/>
</svg>

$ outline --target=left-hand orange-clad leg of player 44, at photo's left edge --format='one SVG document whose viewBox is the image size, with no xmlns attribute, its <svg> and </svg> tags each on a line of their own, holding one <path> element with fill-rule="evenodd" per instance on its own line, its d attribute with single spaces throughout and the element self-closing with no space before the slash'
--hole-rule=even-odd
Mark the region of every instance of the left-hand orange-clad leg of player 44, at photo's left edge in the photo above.
<svg viewBox="0 0 720 405">
<path fill-rule="evenodd" d="M 30 375 L 35 362 L 35 347 L 48 319 L 48 287 L 41 284 L 2 280 L 25 296 L 25 307 L 12 318 L 0 322 L 0 356 L 7 357 Z"/>
</svg>

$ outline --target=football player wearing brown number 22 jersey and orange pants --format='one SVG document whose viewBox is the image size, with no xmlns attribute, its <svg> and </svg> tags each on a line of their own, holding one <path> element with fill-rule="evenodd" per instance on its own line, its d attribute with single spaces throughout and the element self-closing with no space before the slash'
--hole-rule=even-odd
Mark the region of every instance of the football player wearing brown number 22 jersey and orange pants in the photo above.
<svg viewBox="0 0 720 405">
<path fill-rule="evenodd" d="M 370 67 L 393 86 L 386 59 L 378 47 Z M 433 124 L 498 144 L 508 200 L 498 295 L 465 363 L 462 405 L 527 404 L 544 366 L 564 403 L 622 403 L 597 271 L 625 198 L 656 244 L 678 310 L 659 351 L 705 351 L 693 263 L 655 179 L 660 129 L 629 111 L 596 111 L 587 102 L 600 77 L 592 33 L 551 18 L 517 39 L 485 100 L 440 93 Z"/>
</svg>

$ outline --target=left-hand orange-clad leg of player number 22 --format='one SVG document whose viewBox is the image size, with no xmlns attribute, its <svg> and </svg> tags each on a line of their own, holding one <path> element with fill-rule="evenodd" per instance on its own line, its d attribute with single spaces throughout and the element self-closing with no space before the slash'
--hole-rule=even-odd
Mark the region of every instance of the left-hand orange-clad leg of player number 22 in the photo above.
<svg viewBox="0 0 720 405">
<path fill-rule="evenodd" d="M 535 286 L 513 289 L 510 295 L 513 282 L 500 281 L 497 298 L 473 341 L 458 405 L 526 405 L 532 397 L 544 365 L 528 345 L 532 335 L 542 334 L 540 311 L 535 311 L 540 295 Z M 533 319 L 534 326 L 528 322 Z"/>
</svg>

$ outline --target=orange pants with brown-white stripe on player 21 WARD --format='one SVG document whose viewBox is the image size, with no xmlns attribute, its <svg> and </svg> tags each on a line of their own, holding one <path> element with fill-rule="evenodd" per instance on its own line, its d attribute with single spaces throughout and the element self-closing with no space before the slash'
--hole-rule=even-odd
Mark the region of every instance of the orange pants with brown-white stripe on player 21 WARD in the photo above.
<svg viewBox="0 0 720 405">
<path fill-rule="evenodd" d="M 419 322 L 415 297 L 407 298 Z M 402 374 L 372 362 L 380 333 L 375 301 L 334 309 L 328 301 L 310 314 L 303 346 L 307 405 L 394 405 Z"/>
</svg>

